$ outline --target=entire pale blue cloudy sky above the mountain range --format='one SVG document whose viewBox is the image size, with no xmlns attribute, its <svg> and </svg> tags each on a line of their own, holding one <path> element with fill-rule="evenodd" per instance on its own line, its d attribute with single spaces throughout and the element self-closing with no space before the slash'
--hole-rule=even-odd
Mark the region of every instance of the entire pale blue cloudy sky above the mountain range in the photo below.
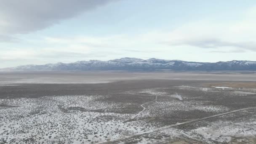
<svg viewBox="0 0 256 144">
<path fill-rule="evenodd" d="M 256 61 L 255 0 L 0 3 L 0 68 L 122 57 Z"/>
</svg>

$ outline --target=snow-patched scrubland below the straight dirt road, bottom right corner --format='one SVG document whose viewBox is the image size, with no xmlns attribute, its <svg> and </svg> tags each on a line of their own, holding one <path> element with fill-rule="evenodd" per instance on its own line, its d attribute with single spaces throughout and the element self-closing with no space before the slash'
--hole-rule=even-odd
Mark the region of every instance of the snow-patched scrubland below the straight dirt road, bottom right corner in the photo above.
<svg viewBox="0 0 256 144">
<path fill-rule="evenodd" d="M 129 142 L 138 144 L 255 144 L 256 108 L 247 108 L 177 123 L 157 128 L 125 139 L 116 139 L 113 144 Z M 247 115 L 245 115 L 247 114 Z"/>
</svg>

